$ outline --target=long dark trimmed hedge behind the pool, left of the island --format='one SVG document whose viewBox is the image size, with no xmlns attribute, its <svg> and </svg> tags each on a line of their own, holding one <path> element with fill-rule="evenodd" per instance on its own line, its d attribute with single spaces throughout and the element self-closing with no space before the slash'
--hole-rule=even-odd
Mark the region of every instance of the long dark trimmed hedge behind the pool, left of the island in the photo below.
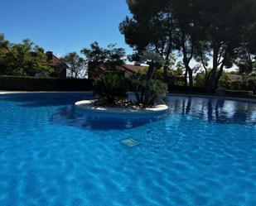
<svg viewBox="0 0 256 206">
<path fill-rule="evenodd" d="M 0 90 L 89 91 L 89 79 L 55 79 L 23 76 L 0 76 Z"/>
</svg>

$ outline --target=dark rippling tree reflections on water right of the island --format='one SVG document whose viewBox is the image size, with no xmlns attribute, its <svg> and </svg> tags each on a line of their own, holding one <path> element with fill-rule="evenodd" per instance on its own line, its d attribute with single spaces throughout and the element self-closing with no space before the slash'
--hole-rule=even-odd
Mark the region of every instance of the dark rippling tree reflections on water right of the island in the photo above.
<svg viewBox="0 0 256 206">
<path fill-rule="evenodd" d="M 170 113 L 199 117 L 206 122 L 256 125 L 256 104 L 224 98 L 169 97 Z"/>
</svg>

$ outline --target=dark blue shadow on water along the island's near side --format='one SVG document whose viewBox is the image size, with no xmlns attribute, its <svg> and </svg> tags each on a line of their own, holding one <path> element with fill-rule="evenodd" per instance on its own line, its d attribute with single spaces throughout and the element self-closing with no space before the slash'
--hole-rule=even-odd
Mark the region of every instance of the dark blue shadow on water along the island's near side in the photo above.
<svg viewBox="0 0 256 206">
<path fill-rule="evenodd" d="M 75 106 L 60 108 L 50 119 L 60 125 L 81 127 L 91 130 L 122 130 L 140 127 L 150 122 L 155 122 L 164 117 L 159 115 L 125 115 L 102 114 L 84 111 Z"/>
</svg>

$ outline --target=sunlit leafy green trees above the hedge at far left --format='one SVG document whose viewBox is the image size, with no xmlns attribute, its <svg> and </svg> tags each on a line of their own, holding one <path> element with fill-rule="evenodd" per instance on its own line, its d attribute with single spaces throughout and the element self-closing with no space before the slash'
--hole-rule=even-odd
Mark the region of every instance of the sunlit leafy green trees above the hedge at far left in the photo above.
<svg viewBox="0 0 256 206">
<path fill-rule="evenodd" d="M 29 39 L 11 44 L 0 36 L 0 74 L 48 77 L 52 72 L 40 46 Z"/>
</svg>

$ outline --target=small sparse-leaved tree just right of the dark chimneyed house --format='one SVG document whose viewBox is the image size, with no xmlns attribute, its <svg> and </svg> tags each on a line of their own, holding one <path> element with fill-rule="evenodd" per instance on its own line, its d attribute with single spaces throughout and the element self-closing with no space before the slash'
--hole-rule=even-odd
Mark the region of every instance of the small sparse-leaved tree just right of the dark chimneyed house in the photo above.
<svg viewBox="0 0 256 206">
<path fill-rule="evenodd" d="M 68 71 L 70 72 L 71 78 L 77 79 L 85 77 L 86 62 L 80 55 L 76 54 L 76 52 L 65 55 L 61 60 L 69 66 Z"/>
</svg>

